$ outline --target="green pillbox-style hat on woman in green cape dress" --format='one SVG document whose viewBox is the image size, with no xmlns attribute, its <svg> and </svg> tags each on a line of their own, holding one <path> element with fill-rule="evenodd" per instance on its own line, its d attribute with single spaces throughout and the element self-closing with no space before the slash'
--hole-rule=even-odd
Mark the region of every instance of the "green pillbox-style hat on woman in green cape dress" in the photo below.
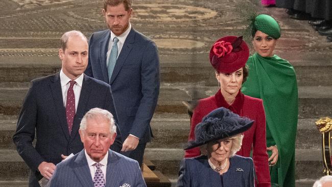
<svg viewBox="0 0 332 187">
<path fill-rule="evenodd" d="M 271 16 L 266 14 L 259 14 L 255 17 L 254 28 L 261 31 L 274 39 L 280 38 L 280 26 L 278 22 Z"/>
</svg>

